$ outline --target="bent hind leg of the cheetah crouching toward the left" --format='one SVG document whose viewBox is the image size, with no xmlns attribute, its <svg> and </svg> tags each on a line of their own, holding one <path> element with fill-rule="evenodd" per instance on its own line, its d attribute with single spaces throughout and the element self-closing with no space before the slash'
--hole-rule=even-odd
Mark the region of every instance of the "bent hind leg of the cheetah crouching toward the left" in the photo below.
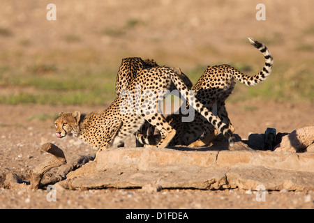
<svg viewBox="0 0 314 223">
<path fill-rule="evenodd" d="M 157 148 L 165 148 L 176 134 L 176 130 L 172 128 L 161 114 L 143 114 L 145 120 L 151 125 L 156 126 L 160 132 L 161 139 L 156 145 Z"/>
</svg>

